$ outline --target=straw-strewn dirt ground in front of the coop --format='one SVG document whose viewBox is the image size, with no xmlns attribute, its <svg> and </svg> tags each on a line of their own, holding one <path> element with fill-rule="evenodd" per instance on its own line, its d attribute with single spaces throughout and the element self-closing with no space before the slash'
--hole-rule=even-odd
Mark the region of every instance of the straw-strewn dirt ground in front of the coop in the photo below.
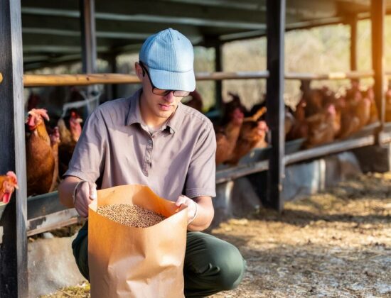
<svg viewBox="0 0 391 298">
<path fill-rule="evenodd" d="M 247 272 L 220 297 L 391 297 L 391 172 L 230 219 L 212 233 L 237 245 Z M 89 297 L 89 285 L 45 297 Z"/>
</svg>

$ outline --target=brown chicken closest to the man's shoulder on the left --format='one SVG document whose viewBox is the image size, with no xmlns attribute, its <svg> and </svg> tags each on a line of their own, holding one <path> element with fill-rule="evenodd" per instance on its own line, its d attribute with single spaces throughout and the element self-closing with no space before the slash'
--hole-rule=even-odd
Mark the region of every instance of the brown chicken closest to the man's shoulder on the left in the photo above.
<svg viewBox="0 0 391 298">
<path fill-rule="evenodd" d="M 65 125 L 65 120 L 60 118 L 58 120 L 58 130 L 60 132 L 60 145 L 58 146 L 58 158 L 59 158 L 59 174 L 62 176 L 68 170 L 68 164 L 75 150 L 77 140 L 82 133 L 82 118 L 80 118 L 77 111 L 70 111 L 69 129 Z"/>
</svg>

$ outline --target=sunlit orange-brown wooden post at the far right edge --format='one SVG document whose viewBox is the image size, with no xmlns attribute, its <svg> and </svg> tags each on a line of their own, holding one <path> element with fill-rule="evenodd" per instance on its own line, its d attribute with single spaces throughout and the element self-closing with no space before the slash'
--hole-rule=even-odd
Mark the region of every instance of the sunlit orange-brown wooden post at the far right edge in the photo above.
<svg viewBox="0 0 391 298">
<path fill-rule="evenodd" d="M 385 121 L 385 57 L 384 57 L 384 23 L 385 0 L 371 1 L 372 23 L 372 65 L 375 72 L 375 101 L 382 126 Z M 382 127 L 381 126 L 381 127 Z"/>
</svg>

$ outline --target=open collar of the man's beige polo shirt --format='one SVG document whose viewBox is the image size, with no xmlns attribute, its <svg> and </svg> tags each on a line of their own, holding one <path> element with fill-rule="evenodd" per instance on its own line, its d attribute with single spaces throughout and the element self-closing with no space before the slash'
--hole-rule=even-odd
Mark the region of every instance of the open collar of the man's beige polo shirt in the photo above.
<svg viewBox="0 0 391 298">
<path fill-rule="evenodd" d="M 130 108 L 129 114 L 127 117 L 126 125 L 132 125 L 134 123 L 140 123 L 141 126 L 146 126 L 141 117 L 140 111 L 140 96 L 141 96 L 142 88 L 137 90 L 133 96 L 130 97 Z M 178 131 L 181 127 L 181 122 L 183 119 L 183 104 L 179 101 L 178 106 L 176 107 L 176 111 L 173 112 L 170 118 L 164 126 L 161 127 L 161 131 L 164 131 L 167 127 L 170 128 L 168 131 L 173 134 Z"/>
</svg>

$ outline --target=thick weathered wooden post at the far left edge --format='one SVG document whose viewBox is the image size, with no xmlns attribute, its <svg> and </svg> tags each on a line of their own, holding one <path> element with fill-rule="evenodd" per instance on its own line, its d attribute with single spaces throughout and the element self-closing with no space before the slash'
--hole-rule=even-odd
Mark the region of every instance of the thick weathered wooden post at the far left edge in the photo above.
<svg viewBox="0 0 391 298">
<path fill-rule="evenodd" d="M 0 214 L 0 297 L 28 297 L 26 148 L 21 1 L 0 0 L 0 175 L 14 170 L 19 189 Z"/>
</svg>

